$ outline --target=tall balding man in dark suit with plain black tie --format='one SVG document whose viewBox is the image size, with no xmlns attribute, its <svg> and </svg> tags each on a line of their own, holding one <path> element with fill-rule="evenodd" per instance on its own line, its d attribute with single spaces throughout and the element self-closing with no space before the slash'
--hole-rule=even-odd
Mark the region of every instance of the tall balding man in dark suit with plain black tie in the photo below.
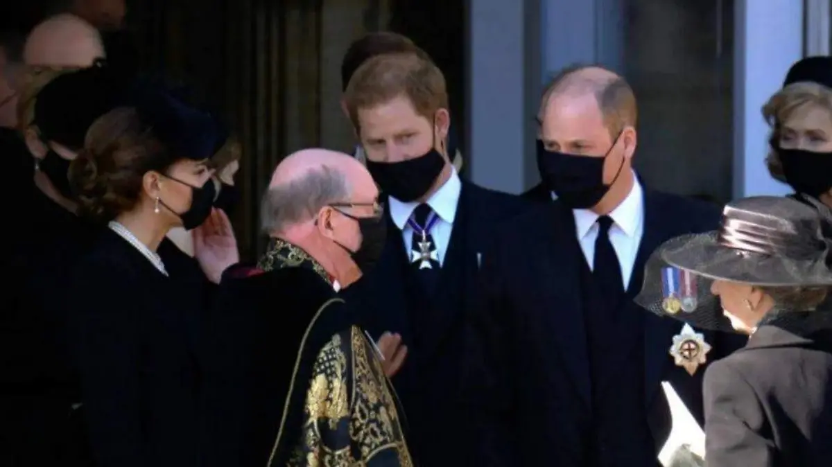
<svg viewBox="0 0 832 467">
<path fill-rule="evenodd" d="M 720 212 L 641 186 L 632 170 L 636 99 L 612 71 L 563 71 L 538 121 L 548 202 L 505 226 L 483 254 L 474 337 L 485 364 L 473 361 L 466 380 L 476 465 L 658 465 L 671 429 L 660 383 L 670 381 L 701 423 L 702 371 L 673 365 L 668 349 L 681 324 L 632 299 L 656 247 L 715 229 Z M 713 360 L 724 346 L 707 338 Z"/>
</svg>

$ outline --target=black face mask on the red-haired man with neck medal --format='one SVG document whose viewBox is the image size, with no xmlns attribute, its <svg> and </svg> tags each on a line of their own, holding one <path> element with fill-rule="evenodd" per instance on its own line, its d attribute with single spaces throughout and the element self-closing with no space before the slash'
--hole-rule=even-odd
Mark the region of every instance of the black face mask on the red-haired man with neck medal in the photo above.
<svg viewBox="0 0 832 467">
<path fill-rule="evenodd" d="M 425 155 L 400 162 L 367 160 L 367 170 L 389 196 L 408 203 L 424 196 L 445 167 L 445 159 L 431 148 Z"/>
</svg>

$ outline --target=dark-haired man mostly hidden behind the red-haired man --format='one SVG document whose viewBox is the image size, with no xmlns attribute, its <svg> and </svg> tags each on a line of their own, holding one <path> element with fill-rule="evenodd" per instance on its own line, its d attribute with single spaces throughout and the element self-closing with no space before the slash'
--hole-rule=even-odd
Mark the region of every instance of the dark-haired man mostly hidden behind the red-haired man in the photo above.
<svg viewBox="0 0 832 467">
<path fill-rule="evenodd" d="M 414 53 L 424 60 L 433 61 L 413 41 L 401 34 L 387 31 L 370 32 L 353 42 L 347 49 L 347 53 L 344 54 L 344 60 L 341 61 L 341 90 L 346 92 L 349 80 L 364 61 L 385 53 Z M 349 112 L 343 98 L 341 99 L 341 109 L 344 111 L 344 115 L 349 118 Z M 456 129 L 453 125 L 448 130 L 448 154 L 453 157 L 454 168 L 457 172 L 461 172 L 463 169 L 463 155 L 458 150 Z M 361 145 L 355 146 L 354 156 L 362 163 L 366 161 L 366 155 L 364 155 L 364 149 Z"/>
</svg>

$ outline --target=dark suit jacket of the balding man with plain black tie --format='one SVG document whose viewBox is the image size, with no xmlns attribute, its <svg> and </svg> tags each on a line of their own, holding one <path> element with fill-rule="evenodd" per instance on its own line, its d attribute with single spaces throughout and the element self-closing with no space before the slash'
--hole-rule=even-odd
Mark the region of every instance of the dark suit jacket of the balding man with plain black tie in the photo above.
<svg viewBox="0 0 832 467">
<path fill-rule="evenodd" d="M 644 232 L 628 290 L 641 288 L 653 250 L 681 234 L 716 229 L 716 207 L 645 189 Z M 571 219 L 565 221 L 564 219 Z M 572 213 L 541 203 L 513 219 L 483 254 L 483 301 L 472 312 L 467 367 L 471 420 L 479 446 L 477 465 L 586 465 L 592 426 L 587 341 L 580 274 L 585 261 Z M 634 309 L 633 312 L 641 312 Z M 689 376 L 673 365 L 668 349 L 681 322 L 643 312 L 646 414 L 656 454 L 671 429 L 661 381 L 670 381 L 697 420 L 702 420 L 703 371 Z M 734 340 L 706 336 L 709 356 Z"/>
</svg>

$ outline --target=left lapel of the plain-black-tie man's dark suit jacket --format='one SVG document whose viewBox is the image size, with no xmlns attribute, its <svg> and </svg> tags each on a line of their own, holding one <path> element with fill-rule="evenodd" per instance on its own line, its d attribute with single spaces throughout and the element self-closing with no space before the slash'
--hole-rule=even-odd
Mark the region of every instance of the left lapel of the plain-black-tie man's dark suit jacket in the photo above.
<svg viewBox="0 0 832 467">
<path fill-rule="evenodd" d="M 532 258 L 539 258 L 535 262 L 538 268 L 533 271 L 542 297 L 537 312 L 548 318 L 549 327 L 542 332 L 554 335 L 578 392 L 590 405 L 592 392 L 579 273 L 580 262 L 586 260 L 577 241 L 572 211 L 557 202 L 542 209 L 545 214 L 540 233 L 543 236 L 529 250 Z"/>
</svg>

